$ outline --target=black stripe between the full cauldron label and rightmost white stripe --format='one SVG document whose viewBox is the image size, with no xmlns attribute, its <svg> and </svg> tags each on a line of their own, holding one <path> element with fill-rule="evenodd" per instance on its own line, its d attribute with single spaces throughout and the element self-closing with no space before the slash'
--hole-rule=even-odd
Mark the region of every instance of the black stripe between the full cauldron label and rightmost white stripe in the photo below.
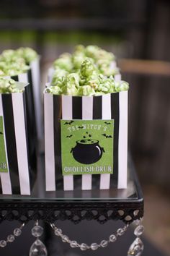
<svg viewBox="0 0 170 256">
<path fill-rule="evenodd" d="M 113 150 L 113 175 L 118 182 L 118 145 L 119 145 L 119 122 L 120 122 L 120 104 L 119 93 L 111 94 L 111 116 L 114 119 L 114 150 Z M 116 182 L 116 183 L 117 183 Z"/>
</svg>

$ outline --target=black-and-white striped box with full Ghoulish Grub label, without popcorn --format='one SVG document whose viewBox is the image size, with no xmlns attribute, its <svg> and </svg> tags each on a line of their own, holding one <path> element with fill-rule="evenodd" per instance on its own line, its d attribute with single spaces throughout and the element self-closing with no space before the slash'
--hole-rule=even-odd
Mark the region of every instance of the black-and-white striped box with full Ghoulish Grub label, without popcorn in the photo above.
<svg viewBox="0 0 170 256">
<path fill-rule="evenodd" d="M 64 190 L 75 189 L 75 175 L 81 175 L 81 189 L 90 190 L 95 174 L 99 189 L 109 189 L 110 175 L 118 188 L 127 187 L 128 91 L 82 97 L 44 93 L 44 103 L 46 190 L 55 190 L 59 179 Z"/>
</svg>

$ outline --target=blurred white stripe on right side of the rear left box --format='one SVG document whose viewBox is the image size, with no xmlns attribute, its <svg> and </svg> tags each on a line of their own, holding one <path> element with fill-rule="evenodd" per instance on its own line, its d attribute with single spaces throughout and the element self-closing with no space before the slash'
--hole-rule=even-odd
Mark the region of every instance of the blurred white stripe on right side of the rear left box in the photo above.
<svg viewBox="0 0 170 256">
<path fill-rule="evenodd" d="M 41 90 L 40 90 L 40 58 L 30 63 L 32 71 L 32 90 L 35 104 L 35 120 L 37 125 L 37 136 L 42 138 L 42 106 L 41 106 Z"/>
</svg>

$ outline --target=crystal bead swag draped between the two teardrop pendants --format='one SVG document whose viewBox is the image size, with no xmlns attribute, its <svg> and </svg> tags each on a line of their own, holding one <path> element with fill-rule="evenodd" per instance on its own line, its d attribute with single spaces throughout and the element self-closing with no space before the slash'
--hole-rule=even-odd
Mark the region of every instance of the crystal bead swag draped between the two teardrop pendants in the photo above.
<svg viewBox="0 0 170 256">
<path fill-rule="evenodd" d="M 125 231 L 128 230 L 128 226 L 129 224 L 126 224 L 124 227 L 120 228 L 120 229 L 117 229 L 116 231 L 116 234 L 111 234 L 109 236 L 109 239 L 107 240 L 102 240 L 99 244 L 97 243 L 92 243 L 91 245 L 88 245 L 88 244 L 85 244 L 85 243 L 82 243 L 82 244 L 79 244 L 78 242 L 76 242 L 76 240 L 70 240 L 68 238 L 68 236 L 64 235 L 62 230 L 61 229 L 58 229 L 54 223 L 50 223 L 50 226 L 52 227 L 53 231 L 54 231 L 54 234 L 55 236 L 60 236 L 61 237 L 61 240 L 63 242 L 67 242 L 68 244 L 70 244 L 71 248 L 76 248 L 78 247 L 79 249 L 81 249 L 81 251 L 86 251 L 86 249 L 91 249 L 91 250 L 96 250 L 96 249 L 99 249 L 100 247 L 107 247 L 107 245 L 109 243 L 113 243 L 113 242 L 116 242 L 117 241 L 117 238 L 119 236 L 122 236 L 123 234 L 125 234 Z M 30 255 L 30 256 L 33 256 L 33 255 Z"/>
</svg>

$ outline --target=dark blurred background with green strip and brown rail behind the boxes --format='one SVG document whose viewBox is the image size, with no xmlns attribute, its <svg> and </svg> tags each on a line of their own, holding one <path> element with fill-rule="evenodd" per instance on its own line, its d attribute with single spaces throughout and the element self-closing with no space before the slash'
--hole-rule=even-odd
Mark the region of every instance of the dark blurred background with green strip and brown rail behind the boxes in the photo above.
<svg viewBox="0 0 170 256">
<path fill-rule="evenodd" d="M 129 147 L 145 196 L 145 233 L 162 255 L 170 255 L 169 27 L 168 0 L 0 1 L 0 51 L 34 48 L 42 88 L 51 62 L 76 44 L 117 56 L 130 83 Z"/>
</svg>

